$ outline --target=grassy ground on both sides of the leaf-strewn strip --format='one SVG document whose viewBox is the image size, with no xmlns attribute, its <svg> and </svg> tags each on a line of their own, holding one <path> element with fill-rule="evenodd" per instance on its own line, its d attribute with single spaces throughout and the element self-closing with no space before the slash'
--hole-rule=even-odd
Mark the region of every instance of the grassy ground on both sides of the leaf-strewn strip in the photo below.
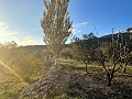
<svg viewBox="0 0 132 99">
<path fill-rule="evenodd" d="M 122 74 L 122 72 L 116 74 L 112 86 L 107 87 L 106 75 L 101 66 L 89 65 L 86 74 L 82 64 L 69 59 L 59 59 L 58 62 L 59 76 L 63 77 L 59 80 L 64 80 L 66 84 L 62 81 L 65 84 L 65 89 L 58 87 L 53 94 L 48 95 L 51 97 L 47 97 L 47 99 L 132 99 L 132 66 L 128 67 L 128 74 Z M 45 64 L 45 66 L 50 67 L 51 64 Z M 34 69 L 24 79 L 25 81 L 8 70 L 1 70 L 0 99 L 16 99 L 24 88 L 43 77 L 48 67 L 44 68 L 42 66 Z M 57 81 L 57 84 L 59 82 Z"/>
</svg>

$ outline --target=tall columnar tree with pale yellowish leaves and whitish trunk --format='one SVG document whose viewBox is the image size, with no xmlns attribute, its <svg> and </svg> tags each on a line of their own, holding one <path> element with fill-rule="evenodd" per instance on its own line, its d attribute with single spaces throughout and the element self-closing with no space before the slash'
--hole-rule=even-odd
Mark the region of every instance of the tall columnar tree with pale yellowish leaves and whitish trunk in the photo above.
<svg viewBox="0 0 132 99">
<path fill-rule="evenodd" d="M 57 67 L 58 53 L 72 34 L 72 21 L 68 13 L 69 0 L 44 0 L 45 11 L 41 20 L 44 43 L 54 55 Z"/>
</svg>

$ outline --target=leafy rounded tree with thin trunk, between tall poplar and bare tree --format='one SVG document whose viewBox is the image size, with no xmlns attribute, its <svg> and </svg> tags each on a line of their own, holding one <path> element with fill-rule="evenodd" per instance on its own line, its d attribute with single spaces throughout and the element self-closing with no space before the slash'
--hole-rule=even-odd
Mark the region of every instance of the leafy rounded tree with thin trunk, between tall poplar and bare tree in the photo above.
<svg viewBox="0 0 132 99">
<path fill-rule="evenodd" d="M 87 64 L 96 61 L 95 53 L 97 44 L 97 37 L 94 35 L 94 33 L 85 34 L 82 40 L 78 37 L 74 38 L 74 43 L 72 44 L 73 57 L 74 59 L 80 61 L 86 64 L 86 72 Z"/>
</svg>

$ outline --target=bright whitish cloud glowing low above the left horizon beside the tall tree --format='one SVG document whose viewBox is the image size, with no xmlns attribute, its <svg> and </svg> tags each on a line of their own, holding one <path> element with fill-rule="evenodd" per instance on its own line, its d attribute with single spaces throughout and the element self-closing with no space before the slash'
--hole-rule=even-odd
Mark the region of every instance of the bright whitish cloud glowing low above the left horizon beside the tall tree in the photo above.
<svg viewBox="0 0 132 99">
<path fill-rule="evenodd" d="M 34 28 L 34 31 L 36 30 L 37 29 Z M 8 23 L 0 21 L 0 43 L 11 41 L 16 42 L 19 45 L 44 44 L 43 41 L 32 37 L 32 35 L 20 36 L 18 31 L 11 30 Z"/>
</svg>

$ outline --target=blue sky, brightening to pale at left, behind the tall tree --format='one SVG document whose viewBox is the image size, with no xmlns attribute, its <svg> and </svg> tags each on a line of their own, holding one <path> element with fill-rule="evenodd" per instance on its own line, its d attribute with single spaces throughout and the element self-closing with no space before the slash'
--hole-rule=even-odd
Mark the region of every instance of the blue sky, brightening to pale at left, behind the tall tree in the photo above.
<svg viewBox="0 0 132 99">
<path fill-rule="evenodd" d="M 102 36 L 132 26 L 132 0 L 69 0 L 73 33 Z M 42 45 L 43 0 L 0 0 L 0 42 Z M 98 32 L 98 33 L 97 33 Z"/>
</svg>

